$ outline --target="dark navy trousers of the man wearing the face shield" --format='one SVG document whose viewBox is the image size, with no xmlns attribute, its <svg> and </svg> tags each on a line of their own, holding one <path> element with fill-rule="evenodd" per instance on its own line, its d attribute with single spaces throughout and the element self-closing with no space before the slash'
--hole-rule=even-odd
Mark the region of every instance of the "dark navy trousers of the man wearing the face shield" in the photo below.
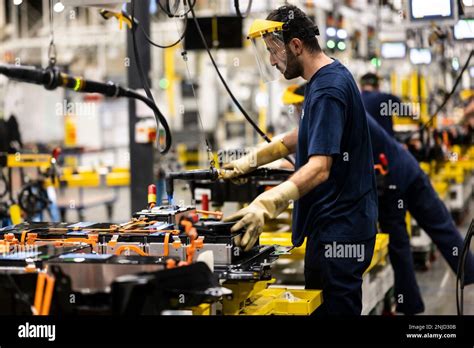
<svg viewBox="0 0 474 348">
<path fill-rule="evenodd" d="M 355 243 L 322 242 L 317 233 L 307 238 L 306 289 L 323 290 L 323 304 L 314 315 L 361 314 L 362 276 L 370 266 L 374 247 L 375 237 Z M 338 248 L 358 250 L 357 256 L 354 252 L 338 254 Z"/>
</svg>

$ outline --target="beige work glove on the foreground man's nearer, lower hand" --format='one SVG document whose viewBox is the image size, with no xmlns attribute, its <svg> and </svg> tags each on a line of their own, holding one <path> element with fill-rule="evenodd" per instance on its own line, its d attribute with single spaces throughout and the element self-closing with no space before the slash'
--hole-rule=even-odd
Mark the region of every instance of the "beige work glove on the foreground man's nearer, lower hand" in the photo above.
<svg viewBox="0 0 474 348">
<path fill-rule="evenodd" d="M 245 251 L 253 248 L 258 237 L 262 233 L 265 219 L 275 219 L 290 204 L 300 198 L 298 187 L 292 181 L 285 181 L 283 184 L 268 190 L 258 196 L 250 205 L 237 213 L 229 216 L 224 221 L 237 221 L 231 232 L 236 233 L 245 229 L 242 238 L 236 238 L 236 246 L 240 246 Z"/>
</svg>

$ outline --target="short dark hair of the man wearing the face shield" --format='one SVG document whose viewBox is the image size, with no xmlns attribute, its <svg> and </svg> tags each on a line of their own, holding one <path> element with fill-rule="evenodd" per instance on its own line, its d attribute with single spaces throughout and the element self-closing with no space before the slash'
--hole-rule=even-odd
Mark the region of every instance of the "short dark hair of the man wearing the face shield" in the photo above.
<svg viewBox="0 0 474 348">
<path fill-rule="evenodd" d="M 282 6 L 272 11 L 267 20 L 275 22 L 284 22 L 283 37 L 285 44 L 288 44 L 292 39 L 300 39 L 304 46 L 311 52 L 321 52 L 316 35 L 319 35 L 319 30 L 314 22 L 306 13 L 294 5 Z"/>
</svg>

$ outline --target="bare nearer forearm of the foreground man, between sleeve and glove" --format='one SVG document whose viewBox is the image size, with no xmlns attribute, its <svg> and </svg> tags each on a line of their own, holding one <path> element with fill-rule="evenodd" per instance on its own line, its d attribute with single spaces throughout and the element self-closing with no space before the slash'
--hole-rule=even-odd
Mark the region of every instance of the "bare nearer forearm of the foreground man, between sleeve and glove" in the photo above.
<svg viewBox="0 0 474 348">
<path fill-rule="evenodd" d="M 298 187 L 300 197 L 303 197 L 315 187 L 328 180 L 331 172 L 332 158 L 325 156 L 315 156 L 300 170 L 298 170 L 290 180 Z"/>
</svg>

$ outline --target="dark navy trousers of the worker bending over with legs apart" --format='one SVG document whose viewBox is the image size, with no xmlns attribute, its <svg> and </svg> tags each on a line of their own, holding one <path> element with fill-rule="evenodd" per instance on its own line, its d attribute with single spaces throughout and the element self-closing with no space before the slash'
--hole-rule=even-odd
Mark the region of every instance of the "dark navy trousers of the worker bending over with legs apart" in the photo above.
<svg viewBox="0 0 474 348">
<path fill-rule="evenodd" d="M 416 282 L 406 227 L 407 210 L 433 240 L 454 272 L 457 272 L 464 241 L 425 173 L 420 172 L 404 193 L 387 190 L 384 196 L 379 197 L 380 227 L 382 232 L 390 235 L 389 256 L 395 274 L 397 312 L 416 314 L 424 311 L 424 305 Z M 474 283 L 474 258 L 471 253 L 465 280 L 466 284 Z"/>
</svg>

